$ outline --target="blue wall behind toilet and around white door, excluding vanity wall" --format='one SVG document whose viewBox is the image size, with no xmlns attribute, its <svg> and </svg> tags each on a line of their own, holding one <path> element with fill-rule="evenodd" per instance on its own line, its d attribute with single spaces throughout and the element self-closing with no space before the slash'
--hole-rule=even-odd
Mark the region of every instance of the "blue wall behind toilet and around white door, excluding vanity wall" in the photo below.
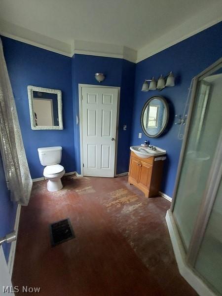
<svg viewBox="0 0 222 296">
<path fill-rule="evenodd" d="M 47 146 L 62 146 L 62 165 L 66 172 L 80 174 L 79 125 L 75 123 L 79 113 L 78 83 L 121 87 L 117 174 L 128 171 L 135 64 L 123 59 L 79 54 L 71 59 L 7 37 L 1 38 L 32 178 L 42 177 L 43 167 L 37 148 Z M 96 72 L 106 74 L 102 83 L 96 81 Z M 31 129 L 27 85 L 62 90 L 64 130 Z M 123 131 L 123 124 L 127 125 L 126 131 Z"/>
</svg>

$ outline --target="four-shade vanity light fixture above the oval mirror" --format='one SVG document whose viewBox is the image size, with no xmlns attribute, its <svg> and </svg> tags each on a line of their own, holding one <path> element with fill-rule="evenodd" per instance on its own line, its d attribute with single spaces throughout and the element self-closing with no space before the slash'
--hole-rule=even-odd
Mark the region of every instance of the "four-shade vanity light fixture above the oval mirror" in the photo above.
<svg viewBox="0 0 222 296">
<path fill-rule="evenodd" d="M 148 85 L 148 81 L 150 81 L 149 85 Z M 157 84 L 154 77 L 152 77 L 152 79 L 146 79 L 143 83 L 142 91 L 149 91 L 149 90 L 156 90 L 156 89 L 160 91 L 164 89 L 166 86 L 174 86 L 174 85 L 175 85 L 175 77 L 174 77 L 174 74 L 170 72 L 170 74 L 168 74 L 165 78 L 163 75 L 161 75 L 157 80 Z"/>
</svg>

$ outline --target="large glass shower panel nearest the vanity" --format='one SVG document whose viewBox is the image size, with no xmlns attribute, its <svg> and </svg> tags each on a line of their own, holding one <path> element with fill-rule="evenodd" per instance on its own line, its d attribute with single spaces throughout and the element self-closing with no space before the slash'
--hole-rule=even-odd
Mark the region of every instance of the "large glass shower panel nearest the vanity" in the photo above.
<svg viewBox="0 0 222 296">
<path fill-rule="evenodd" d="M 222 74 L 198 83 L 173 216 L 188 249 L 222 128 Z"/>
</svg>

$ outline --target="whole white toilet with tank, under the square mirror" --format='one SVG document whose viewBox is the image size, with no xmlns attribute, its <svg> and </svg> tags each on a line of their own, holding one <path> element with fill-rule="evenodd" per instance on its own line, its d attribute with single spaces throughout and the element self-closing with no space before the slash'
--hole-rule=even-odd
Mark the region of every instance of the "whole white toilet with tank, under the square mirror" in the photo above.
<svg viewBox="0 0 222 296">
<path fill-rule="evenodd" d="M 62 147 L 38 148 L 38 156 L 44 168 L 43 175 L 48 178 L 48 191 L 59 191 L 63 185 L 62 176 L 65 174 L 64 167 L 60 165 L 62 158 Z"/>
</svg>

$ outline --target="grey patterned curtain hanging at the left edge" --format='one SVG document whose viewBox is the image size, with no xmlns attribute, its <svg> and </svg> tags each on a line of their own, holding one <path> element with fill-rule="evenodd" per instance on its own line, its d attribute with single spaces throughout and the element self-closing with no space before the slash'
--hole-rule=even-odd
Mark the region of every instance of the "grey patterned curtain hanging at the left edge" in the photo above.
<svg viewBox="0 0 222 296">
<path fill-rule="evenodd" d="M 28 100 L 27 100 L 28 102 Z M 32 179 L 0 39 L 0 152 L 11 200 L 27 206 Z"/>
</svg>

